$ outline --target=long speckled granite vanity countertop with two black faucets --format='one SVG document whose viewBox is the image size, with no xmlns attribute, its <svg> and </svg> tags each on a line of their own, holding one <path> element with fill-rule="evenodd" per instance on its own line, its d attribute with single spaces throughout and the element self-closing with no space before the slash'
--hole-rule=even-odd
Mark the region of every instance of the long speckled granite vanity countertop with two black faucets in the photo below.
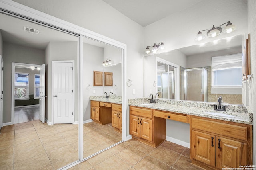
<svg viewBox="0 0 256 170">
<path fill-rule="evenodd" d="M 145 100 L 146 99 L 146 100 Z M 195 115 L 200 117 L 207 117 L 211 119 L 219 119 L 224 121 L 232 121 L 237 123 L 244 123 L 252 125 L 252 112 L 249 108 L 242 105 L 224 104 L 227 111 L 215 111 L 213 104 L 208 102 L 192 102 L 182 100 L 161 100 L 158 99 L 156 103 L 150 103 L 148 98 L 131 99 L 128 100 L 130 106 L 145 107 L 150 109 L 170 111 L 175 113 L 182 113 L 186 115 Z"/>
</svg>

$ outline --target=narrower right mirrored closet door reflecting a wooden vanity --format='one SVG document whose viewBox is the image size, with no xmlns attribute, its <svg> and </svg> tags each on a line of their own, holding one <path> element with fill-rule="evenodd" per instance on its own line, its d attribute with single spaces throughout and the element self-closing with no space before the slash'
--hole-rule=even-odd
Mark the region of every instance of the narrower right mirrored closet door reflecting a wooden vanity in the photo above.
<svg viewBox="0 0 256 170">
<path fill-rule="evenodd" d="M 83 51 L 86 158 L 122 141 L 122 51 L 86 37 Z"/>
</svg>

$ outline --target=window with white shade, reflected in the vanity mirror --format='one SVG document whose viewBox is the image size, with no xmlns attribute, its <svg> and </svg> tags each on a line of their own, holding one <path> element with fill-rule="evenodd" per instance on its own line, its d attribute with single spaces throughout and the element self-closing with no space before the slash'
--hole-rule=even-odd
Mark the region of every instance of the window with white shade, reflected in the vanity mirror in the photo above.
<svg viewBox="0 0 256 170">
<path fill-rule="evenodd" d="M 242 54 L 212 57 L 212 86 L 242 86 Z"/>
</svg>

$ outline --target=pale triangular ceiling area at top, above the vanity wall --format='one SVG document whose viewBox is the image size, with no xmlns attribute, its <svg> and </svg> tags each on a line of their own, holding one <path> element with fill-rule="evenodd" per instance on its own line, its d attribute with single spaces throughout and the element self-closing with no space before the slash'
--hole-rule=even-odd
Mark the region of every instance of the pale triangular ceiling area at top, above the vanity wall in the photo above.
<svg viewBox="0 0 256 170">
<path fill-rule="evenodd" d="M 150 25 L 176 12 L 186 10 L 202 0 L 102 0 L 140 24 Z"/>
</svg>

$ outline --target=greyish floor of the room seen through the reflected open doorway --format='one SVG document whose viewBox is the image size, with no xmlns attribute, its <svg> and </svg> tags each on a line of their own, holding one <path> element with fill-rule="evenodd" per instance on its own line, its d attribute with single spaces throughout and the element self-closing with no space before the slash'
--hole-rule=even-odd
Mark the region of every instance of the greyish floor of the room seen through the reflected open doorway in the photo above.
<svg viewBox="0 0 256 170">
<path fill-rule="evenodd" d="M 39 120 L 39 106 L 20 107 L 14 109 L 14 123 Z"/>
</svg>

